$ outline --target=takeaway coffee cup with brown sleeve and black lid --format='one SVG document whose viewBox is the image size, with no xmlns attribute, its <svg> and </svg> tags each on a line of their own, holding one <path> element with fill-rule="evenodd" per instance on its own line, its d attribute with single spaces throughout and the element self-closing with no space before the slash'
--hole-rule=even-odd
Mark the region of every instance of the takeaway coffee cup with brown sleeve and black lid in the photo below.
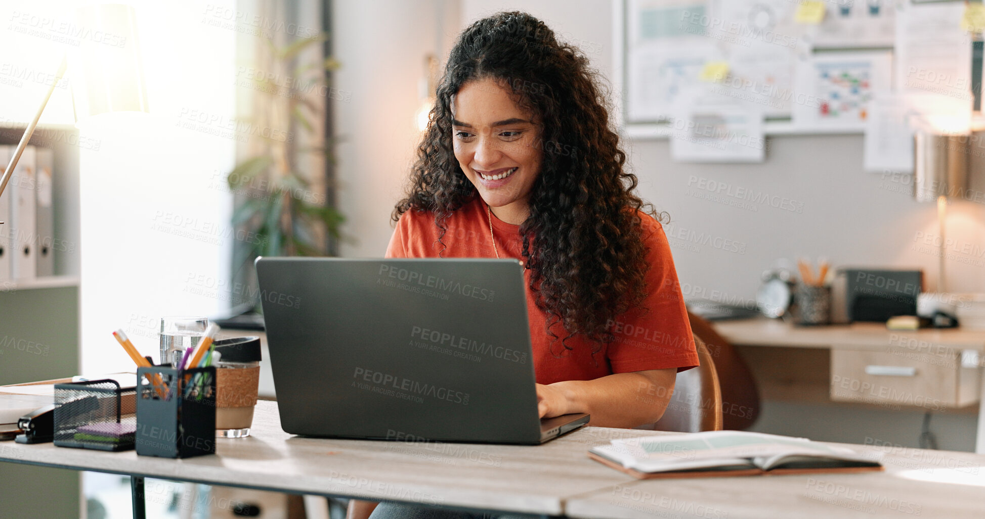
<svg viewBox="0 0 985 519">
<path fill-rule="evenodd" d="M 249 436 L 260 387 L 260 338 L 236 337 L 215 342 L 222 354 L 216 366 L 216 435 Z"/>
</svg>

